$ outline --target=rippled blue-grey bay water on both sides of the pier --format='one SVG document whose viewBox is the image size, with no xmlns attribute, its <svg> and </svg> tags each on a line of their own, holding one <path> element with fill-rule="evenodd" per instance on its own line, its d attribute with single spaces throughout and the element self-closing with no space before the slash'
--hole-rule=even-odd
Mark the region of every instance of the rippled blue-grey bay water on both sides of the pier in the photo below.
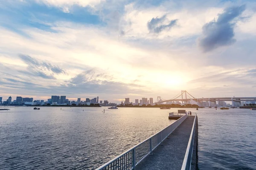
<svg viewBox="0 0 256 170">
<path fill-rule="evenodd" d="M 0 111 L 0 169 L 19 170 L 95 169 L 171 124 L 168 113 L 177 111 L 10 109 Z M 197 113 L 200 170 L 256 170 L 256 111 L 205 108 Z"/>
</svg>

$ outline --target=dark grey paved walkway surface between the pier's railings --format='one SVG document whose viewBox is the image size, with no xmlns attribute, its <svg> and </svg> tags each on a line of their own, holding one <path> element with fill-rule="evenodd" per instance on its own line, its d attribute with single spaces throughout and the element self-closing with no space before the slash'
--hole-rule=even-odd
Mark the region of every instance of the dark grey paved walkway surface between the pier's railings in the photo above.
<svg viewBox="0 0 256 170">
<path fill-rule="evenodd" d="M 188 116 L 152 153 L 143 159 L 136 170 L 180 170 L 189 142 L 195 116 Z M 194 154 L 194 153 L 193 153 Z M 191 168 L 195 169 L 195 167 Z"/>
</svg>

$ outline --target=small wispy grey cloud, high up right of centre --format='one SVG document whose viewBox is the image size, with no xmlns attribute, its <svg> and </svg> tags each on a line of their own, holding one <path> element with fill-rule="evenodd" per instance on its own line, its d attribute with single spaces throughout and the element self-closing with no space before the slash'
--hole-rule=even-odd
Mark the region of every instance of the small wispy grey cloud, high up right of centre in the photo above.
<svg viewBox="0 0 256 170">
<path fill-rule="evenodd" d="M 165 21 L 167 21 L 166 15 L 163 15 L 163 17 L 155 17 L 152 18 L 150 21 L 148 21 L 148 30 L 150 32 L 154 32 L 156 34 L 159 34 L 165 29 L 170 29 L 173 26 L 177 25 L 177 19 L 171 20 L 169 24 L 163 24 Z"/>
</svg>

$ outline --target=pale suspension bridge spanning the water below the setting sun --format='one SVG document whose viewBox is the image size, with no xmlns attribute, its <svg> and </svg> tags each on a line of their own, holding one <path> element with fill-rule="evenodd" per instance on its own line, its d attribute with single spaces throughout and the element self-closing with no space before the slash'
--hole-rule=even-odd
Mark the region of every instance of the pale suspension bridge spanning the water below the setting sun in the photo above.
<svg viewBox="0 0 256 170">
<path fill-rule="evenodd" d="M 256 102 L 256 97 L 211 97 L 211 98 L 195 98 L 188 91 L 181 91 L 172 99 L 163 99 L 161 96 L 157 96 L 157 104 L 170 104 L 170 102 L 181 102 L 184 104 L 195 104 L 200 107 L 215 107 L 225 106 L 225 102 L 232 102 L 232 106 L 239 107 L 241 106 L 241 102 Z"/>
</svg>

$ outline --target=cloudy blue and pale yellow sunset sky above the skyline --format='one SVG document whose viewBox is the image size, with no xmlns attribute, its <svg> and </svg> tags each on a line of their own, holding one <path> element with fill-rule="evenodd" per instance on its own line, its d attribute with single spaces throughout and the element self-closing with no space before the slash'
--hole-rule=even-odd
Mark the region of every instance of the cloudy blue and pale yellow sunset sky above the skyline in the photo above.
<svg viewBox="0 0 256 170">
<path fill-rule="evenodd" d="M 255 23 L 255 0 L 0 0 L 0 96 L 256 96 Z"/>
</svg>

